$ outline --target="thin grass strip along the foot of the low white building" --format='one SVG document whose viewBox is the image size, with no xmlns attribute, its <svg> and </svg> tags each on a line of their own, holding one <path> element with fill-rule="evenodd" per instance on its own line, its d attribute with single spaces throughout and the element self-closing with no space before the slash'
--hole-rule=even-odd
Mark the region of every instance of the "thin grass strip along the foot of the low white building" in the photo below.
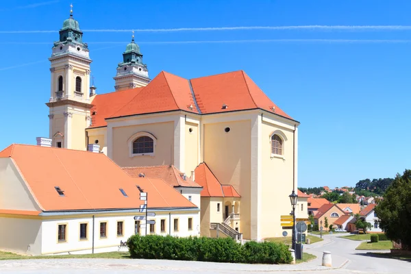
<svg viewBox="0 0 411 274">
<path fill-rule="evenodd" d="M 0 251 L 0 260 L 23 260 L 23 259 L 74 259 L 74 258 L 109 258 L 109 259 L 129 259 L 128 252 L 107 252 L 81 255 L 55 255 L 55 256 L 25 256 L 11 252 Z"/>
</svg>

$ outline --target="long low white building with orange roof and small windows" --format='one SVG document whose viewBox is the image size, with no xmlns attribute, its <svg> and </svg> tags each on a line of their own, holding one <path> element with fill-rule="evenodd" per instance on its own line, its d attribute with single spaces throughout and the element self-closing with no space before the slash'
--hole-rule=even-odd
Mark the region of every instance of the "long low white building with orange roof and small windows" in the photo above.
<svg viewBox="0 0 411 274">
<path fill-rule="evenodd" d="M 148 219 L 140 213 L 147 192 Z M 141 217 L 140 217 L 141 218 Z M 0 249 L 116 251 L 139 233 L 199 236 L 199 207 L 162 179 L 130 177 L 103 153 L 10 145 L 0 152 Z"/>
</svg>

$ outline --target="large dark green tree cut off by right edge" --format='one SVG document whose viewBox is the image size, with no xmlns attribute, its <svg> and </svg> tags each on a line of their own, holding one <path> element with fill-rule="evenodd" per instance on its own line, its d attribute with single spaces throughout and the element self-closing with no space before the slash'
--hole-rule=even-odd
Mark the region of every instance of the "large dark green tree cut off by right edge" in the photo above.
<svg viewBox="0 0 411 274">
<path fill-rule="evenodd" d="M 411 250 L 411 170 L 397 174 L 388 186 L 384 199 L 375 207 L 379 227 L 390 240 L 401 242 L 403 249 Z"/>
</svg>

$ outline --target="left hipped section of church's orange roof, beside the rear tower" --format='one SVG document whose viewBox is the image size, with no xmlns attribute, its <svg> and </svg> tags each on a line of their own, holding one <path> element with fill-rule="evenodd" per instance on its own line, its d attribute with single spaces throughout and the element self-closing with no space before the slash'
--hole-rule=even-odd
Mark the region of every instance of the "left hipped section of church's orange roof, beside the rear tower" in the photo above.
<svg viewBox="0 0 411 274">
<path fill-rule="evenodd" d="M 192 110 L 188 108 L 190 105 Z M 188 80 L 162 71 L 131 101 L 107 118 L 171 110 L 199 113 Z"/>
</svg>

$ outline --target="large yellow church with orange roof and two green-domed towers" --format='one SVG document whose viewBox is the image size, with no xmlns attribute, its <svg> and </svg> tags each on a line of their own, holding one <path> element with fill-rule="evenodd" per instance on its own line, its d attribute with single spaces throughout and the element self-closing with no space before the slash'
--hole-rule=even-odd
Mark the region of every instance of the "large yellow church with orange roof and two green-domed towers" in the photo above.
<svg viewBox="0 0 411 274">
<path fill-rule="evenodd" d="M 113 92 L 99 95 L 90 86 L 92 51 L 72 13 L 59 33 L 46 103 L 52 147 L 95 145 L 136 176 L 174 172 L 201 186 L 179 191 L 201 191 L 203 236 L 216 227 L 244 239 L 282 235 L 280 216 L 290 214 L 288 195 L 297 189 L 299 122 L 244 71 L 194 79 L 162 71 L 151 79 L 133 35 Z"/>
</svg>

